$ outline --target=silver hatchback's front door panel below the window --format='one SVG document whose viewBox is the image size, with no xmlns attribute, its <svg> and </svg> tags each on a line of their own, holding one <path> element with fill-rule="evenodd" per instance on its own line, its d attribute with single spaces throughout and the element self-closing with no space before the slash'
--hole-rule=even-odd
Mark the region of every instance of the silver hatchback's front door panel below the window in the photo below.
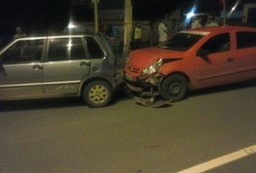
<svg viewBox="0 0 256 173">
<path fill-rule="evenodd" d="M 0 75 L 0 99 L 43 96 L 43 71 L 35 70 L 41 63 L 3 65 Z M 18 76 L 18 78 L 17 78 Z"/>
</svg>

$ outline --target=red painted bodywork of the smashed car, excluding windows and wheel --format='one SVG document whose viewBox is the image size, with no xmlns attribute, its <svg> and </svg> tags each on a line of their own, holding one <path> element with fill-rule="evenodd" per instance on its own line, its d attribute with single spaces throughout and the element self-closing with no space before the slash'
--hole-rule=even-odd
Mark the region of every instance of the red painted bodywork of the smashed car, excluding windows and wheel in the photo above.
<svg viewBox="0 0 256 173">
<path fill-rule="evenodd" d="M 205 36 L 184 52 L 157 47 L 132 51 L 125 67 L 127 80 L 132 83 L 147 83 L 140 79 L 141 72 L 159 59 L 167 61 L 157 71 L 163 76 L 162 80 L 171 74 L 183 74 L 188 81 L 188 89 L 232 84 L 256 78 L 256 46 L 238 49 L 237 45 L 238 32 L 251 32 L 256 35 L 255 28 L 226 26 L 187 32 L 201 32 Z M 198 56 L 199 49 L 207 41 L 222 34 L 228 34 L 230 38 L 229 49 L 209 54 L 208 60 Z"/>
</svg>

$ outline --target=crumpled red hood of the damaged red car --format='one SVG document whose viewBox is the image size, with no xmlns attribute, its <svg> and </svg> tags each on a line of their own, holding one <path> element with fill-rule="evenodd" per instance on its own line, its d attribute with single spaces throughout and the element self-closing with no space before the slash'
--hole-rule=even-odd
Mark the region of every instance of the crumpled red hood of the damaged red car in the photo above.
<svg viewBox="0 0 256 173">
<path fill-rule="evenodd" d="M 184 52 L 176 52 L 168 49 L 150 47 L 131 51 L 128 56 L 128 65 L 135 68 L 145 68 L 154 64 L 159 59 L 182 59 Z"/>
</svg>

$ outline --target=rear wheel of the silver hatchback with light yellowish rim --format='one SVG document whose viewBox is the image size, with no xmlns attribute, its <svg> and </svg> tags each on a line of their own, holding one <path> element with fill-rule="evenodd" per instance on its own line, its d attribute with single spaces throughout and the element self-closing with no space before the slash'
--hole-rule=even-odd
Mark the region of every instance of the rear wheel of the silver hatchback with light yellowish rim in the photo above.
<svg viewBox="0 0 256 173">
<path fill-rule="evenodd" d="M 91 108 L 105 107 L 111 101 L 112 87 L 104 81 L 94 81 L 83 89 L 83 99 Z"/>
</svg>

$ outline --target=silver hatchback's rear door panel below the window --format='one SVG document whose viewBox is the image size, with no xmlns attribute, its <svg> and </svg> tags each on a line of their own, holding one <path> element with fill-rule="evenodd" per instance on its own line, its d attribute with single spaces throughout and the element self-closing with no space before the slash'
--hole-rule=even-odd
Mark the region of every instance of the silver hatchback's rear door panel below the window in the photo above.
<svg viewBox="0 0 256 173">
<path fill-rule="evenodd" d="M 84 60 L 43 63 L 43 94 L 77 95 L 81 81 L 89 75 L 88 63 Z"/>
</svg>

